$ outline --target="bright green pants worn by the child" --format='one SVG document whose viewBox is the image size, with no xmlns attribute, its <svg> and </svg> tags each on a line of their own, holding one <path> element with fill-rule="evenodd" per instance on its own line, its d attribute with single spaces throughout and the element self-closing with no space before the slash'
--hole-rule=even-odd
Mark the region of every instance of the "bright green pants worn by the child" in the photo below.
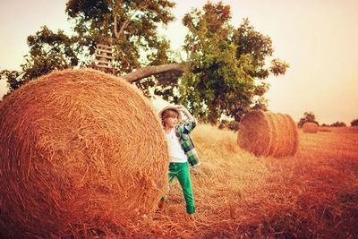
<svg viewBox="0 0 358 239">
<path fill-rule="evenodd" d="M 192 183 L 190 180 L 189 164 L 188 163 L 170 163 L 169 164 L 169 186 L 173 183 L 175 177 L 178 178 L 183 189 L 184 199 L 186 203 L 186 212 L 192 214 L 195 212 L 194 198 L 192 196 Z M 162 201 L 166 200 L 166 196 Z"/>
</svg>

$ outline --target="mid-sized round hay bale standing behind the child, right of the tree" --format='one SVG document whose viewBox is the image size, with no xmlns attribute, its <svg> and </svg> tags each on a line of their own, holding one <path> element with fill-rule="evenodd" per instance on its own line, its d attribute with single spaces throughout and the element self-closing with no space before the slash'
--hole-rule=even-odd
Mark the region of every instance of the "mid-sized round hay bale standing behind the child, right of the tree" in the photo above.
<svg viewBox="0 0 358 239">
<path fill-rule="evenodd" d="M 253 110 L 240 121 L 237 143 L 256 156 L 294 156 L 298 132 L 289 115 Z"/>
</svg>

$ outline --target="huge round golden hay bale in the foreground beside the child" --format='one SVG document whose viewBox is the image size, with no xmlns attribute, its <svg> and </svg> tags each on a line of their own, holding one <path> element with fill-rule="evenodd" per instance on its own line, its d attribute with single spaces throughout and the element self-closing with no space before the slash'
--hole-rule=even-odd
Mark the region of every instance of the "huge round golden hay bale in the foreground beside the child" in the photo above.
<svg viewBox="0 0 358 239">
<path fill-rule="evenodd" d="M 50 73 L 5 98 L 0 158 L 0 229 L 19 238 L 131 226 L 156 209 L 169 161 L 150 101 L 94 70 Z"/>
</svg>

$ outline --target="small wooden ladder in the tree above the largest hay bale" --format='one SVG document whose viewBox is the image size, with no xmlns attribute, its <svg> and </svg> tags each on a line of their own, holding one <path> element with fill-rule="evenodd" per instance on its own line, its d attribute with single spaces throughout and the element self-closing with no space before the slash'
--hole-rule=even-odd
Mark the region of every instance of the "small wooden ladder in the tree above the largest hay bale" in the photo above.
<svg viewBox="0 0 358 239">
<path fill-rule="evenodd" d="M 95 52 L 95 64 L 99 71 L 115 74 L 114 52 L 112 45 L 100 43 L 97 45 Z"/>
</svg>

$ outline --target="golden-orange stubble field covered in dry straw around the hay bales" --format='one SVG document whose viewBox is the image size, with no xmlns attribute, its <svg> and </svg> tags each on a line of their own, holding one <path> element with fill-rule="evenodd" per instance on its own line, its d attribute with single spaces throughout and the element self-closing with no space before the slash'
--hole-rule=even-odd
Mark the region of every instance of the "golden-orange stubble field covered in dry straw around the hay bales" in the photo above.
<svg viewBox="0 0 358 239">
<path fill-rule="evenodd" d="M 358 128 L 299 130 L 294 157 L 257 158 L 237 133 L 198 125 L 192 139 L 197 212 L 185 219 L 177 181 L 166 210 L 142 218 L 122 236 L 162 238 L 354 238 L 358 235 Z"/>
</svg>

